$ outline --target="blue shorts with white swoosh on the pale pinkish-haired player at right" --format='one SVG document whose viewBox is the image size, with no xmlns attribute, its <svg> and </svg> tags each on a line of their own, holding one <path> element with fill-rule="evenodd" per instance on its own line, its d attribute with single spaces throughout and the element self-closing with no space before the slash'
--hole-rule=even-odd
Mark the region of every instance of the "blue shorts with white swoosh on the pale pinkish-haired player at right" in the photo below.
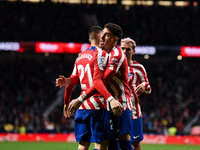
<svg viewBox="0 0 200 150">
<path fill-rule="evenodd" d="M 143 140 L 142 117 L 131 119 L 131 142 Z"/>
</svg>

